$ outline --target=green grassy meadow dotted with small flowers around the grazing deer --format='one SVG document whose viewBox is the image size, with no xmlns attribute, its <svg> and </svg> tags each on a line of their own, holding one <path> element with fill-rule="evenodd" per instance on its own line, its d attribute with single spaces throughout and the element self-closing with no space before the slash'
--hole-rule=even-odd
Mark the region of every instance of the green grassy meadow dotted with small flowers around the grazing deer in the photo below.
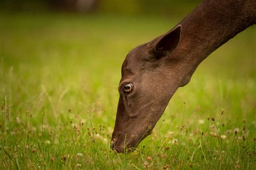
<svg viewBox="0 0 256 170">
<path fill-rule="evenodd" d="M 138 150 L 110 150 L 126 54 L 179 20 L 1 14 L 0 169 L 256 169 L 255 27 L 201 63 Z"/>
</svg>

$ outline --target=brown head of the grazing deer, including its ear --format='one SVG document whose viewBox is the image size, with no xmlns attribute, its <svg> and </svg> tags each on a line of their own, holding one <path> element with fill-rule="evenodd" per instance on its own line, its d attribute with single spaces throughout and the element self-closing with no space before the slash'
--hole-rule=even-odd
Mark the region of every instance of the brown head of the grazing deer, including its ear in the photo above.
<svg viewBox="0 0 256 170">
<path fill-rule="evenodd" d="M 151 134 L 170 98 L 188 83 L 183 62 L 174 51 L 179 46 L 181 25 L 151 42 L 132 49 L 122 65 L 119 102 L 111 147 L 137 147 Z"/>
</svg>

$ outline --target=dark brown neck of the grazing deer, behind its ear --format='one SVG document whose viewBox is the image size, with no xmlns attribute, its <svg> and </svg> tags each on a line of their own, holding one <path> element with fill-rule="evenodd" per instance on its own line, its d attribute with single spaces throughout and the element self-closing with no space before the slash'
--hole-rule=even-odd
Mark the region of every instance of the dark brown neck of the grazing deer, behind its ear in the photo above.
<svg viewBox="0 0 256 170">
<path fill-rule="evenodd" d="M 191 66 L 191 74 L 215 49 L 255 24 L 255 4 L 253 0 L 203 1 L 179 23 L 181 37 L 174 53 Z"/>
</svg>

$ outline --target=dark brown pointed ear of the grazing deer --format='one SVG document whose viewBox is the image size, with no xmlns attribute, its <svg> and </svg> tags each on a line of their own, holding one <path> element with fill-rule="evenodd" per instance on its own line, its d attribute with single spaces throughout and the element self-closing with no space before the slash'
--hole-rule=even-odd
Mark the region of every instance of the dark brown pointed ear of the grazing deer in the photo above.
<svg viewBox="0 0 256 170">
<path fill-rule="evenodd" d="M 157 59 L 163 58 L 167 54 L 172 53 L 179 44 L 181 25 L 176 26 L 163 36 L 150 42 L 150 51 L 154 53 Z"/>
</svg>

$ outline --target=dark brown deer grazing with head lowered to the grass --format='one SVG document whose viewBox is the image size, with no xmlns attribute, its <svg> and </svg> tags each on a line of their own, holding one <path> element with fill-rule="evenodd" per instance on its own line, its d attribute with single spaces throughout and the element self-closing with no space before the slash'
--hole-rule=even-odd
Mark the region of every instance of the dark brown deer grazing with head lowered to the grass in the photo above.
<svg viewBox="0 0 256 170">
<path fill-rule="evenodd" d="M 173 29 L 132 49 L 122 65 L 112 150 L 133 151 L 198 65 L 255 23 L 255 0 L 203 0 Z"/>
</svg>

